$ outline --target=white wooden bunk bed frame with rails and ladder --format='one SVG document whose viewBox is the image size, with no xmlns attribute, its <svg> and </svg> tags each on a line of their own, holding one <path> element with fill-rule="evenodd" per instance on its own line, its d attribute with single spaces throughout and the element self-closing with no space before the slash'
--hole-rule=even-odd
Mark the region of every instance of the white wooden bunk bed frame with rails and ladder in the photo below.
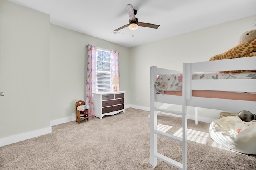
<svg viewBox="0 0 256 170">
<path fill-rule="evenodd" d="M 153 168 L 157 165 L 157 159 L 163 160 L 176 168 L 187 170 L 187 110 L 186 106 L 202 107 L 231 111 L 238 113 L 248 110 L 256 113 L 256 101 L 230 100 L 218 98 L 193 97 L 192 90 L 219 90 L 232 92 L 256 92 L 256 79 L 235 79 L 235 80 L 192 80 L 194 72 L 215 72 L 230 70 L 256 70 L 256 57 L 244 57 L 237 59 L 225 59 L 216 61 L 206 61 L 199 63 L 183 64 L 183 86 L 182 96 L 158 94 L 154 87 L 155 80 L 161 74 L 174 74 L 178 71 L 150 67 L 150 164 Z M 245 86 L 246 85 L 246 86 Z M 172 111 L 169 109 L 159 109 L 156 102 L 166 104 L 182 105 L 182 111 Z M 163 133 L 157 130 L 157 114 L 165 112 L 170 115 L 182 116 L 182 138 Z M 182 163 L 168 158 L 157 151 L 157 136 L 182 143 Z"/>
</svg>

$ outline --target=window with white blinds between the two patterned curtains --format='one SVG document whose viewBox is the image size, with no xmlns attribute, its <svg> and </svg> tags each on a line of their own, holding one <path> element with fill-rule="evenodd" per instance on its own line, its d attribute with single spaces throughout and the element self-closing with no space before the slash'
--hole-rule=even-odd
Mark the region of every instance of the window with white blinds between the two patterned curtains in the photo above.
<svg viewBox="0 0 256 170">
<path fill-rule="evenodd" d="M 97 92 L 111 91 L 110 51 L 99 49 L 96 52 Z"/>
</svg>

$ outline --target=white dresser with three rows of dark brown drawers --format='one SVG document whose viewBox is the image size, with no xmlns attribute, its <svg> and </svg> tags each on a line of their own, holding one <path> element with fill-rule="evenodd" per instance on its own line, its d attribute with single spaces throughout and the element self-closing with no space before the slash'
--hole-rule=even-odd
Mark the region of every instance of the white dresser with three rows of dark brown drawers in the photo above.
<svg viewBox="0 0 256 170">
<path fill-rule="evenodd" d="M 124 91 L 93 93 L 94 115 L 102 119 L 105 115 L 124 113 Z"/>
</svg>

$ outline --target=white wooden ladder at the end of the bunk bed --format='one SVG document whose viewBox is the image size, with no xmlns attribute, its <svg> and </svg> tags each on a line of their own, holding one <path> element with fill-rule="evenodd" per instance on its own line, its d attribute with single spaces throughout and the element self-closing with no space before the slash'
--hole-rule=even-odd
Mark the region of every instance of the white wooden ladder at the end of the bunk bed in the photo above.
<svg viewBox="0 0 256 170">
<path fill-rule="evenodd" d="M 184 70 L 186 70 L 186 68 L 183 67 L 183 72 Z M 187 111 L 186 111 L 186 97 L 185 97 L 186 94 L 183 94 L 184 101 L 182 105 L 182 112 L 156 108 L 155 106 L 156 89 L 154 88 L 156 76 L 157 76 L 157 67 L 155 66 L 150 67 L 150 164 L 152 165 L 153 168 L 155 168 L 157 165 L 157 159 L 160 159 L 168 164 L 171 164 L 172 166 L 175 166 L 176 168 L 179 168 L 181 170 L 187 170 L 187 114 L 186 114 Z M 185 81 L 184 77 L 183 77 L 183 81 Z M 183 86 L 183 90 L 185 86 Z M 159 111 L 172 113 L 176 115 L 182 115 L 182 138 L 157 130 L 157 113 Z M 157 152 L 157 136 L 158 135 L 182 143 L 182 163 L 177 162 L 176 160 L 173 160 L 172 158 L 168 158 L 167 156 L 164 156 Z"/>
</svg>

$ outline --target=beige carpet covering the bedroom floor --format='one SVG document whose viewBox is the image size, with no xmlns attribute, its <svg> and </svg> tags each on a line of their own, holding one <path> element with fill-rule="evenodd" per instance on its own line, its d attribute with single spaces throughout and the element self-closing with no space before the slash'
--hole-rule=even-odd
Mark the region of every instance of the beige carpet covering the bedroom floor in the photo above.
<svg viewBox="0 0 256 170">
<path fill-rule="evenodd" d="M 0 147 L 1 170 L 153 170 L 148 111 L 90 118 L 52 127 L 52 133 Z M 181 118 L 158 116 L 159 129 L 181 135 Z M 256 170 L 256 157 L 220 147 L 209 123 L 188 120 L 188 170 Z M 158 137 L 158 152 L 182 160 L 182 145 Z M 155 170 L 177 168 L 158 160 Z"/>
</svg>

